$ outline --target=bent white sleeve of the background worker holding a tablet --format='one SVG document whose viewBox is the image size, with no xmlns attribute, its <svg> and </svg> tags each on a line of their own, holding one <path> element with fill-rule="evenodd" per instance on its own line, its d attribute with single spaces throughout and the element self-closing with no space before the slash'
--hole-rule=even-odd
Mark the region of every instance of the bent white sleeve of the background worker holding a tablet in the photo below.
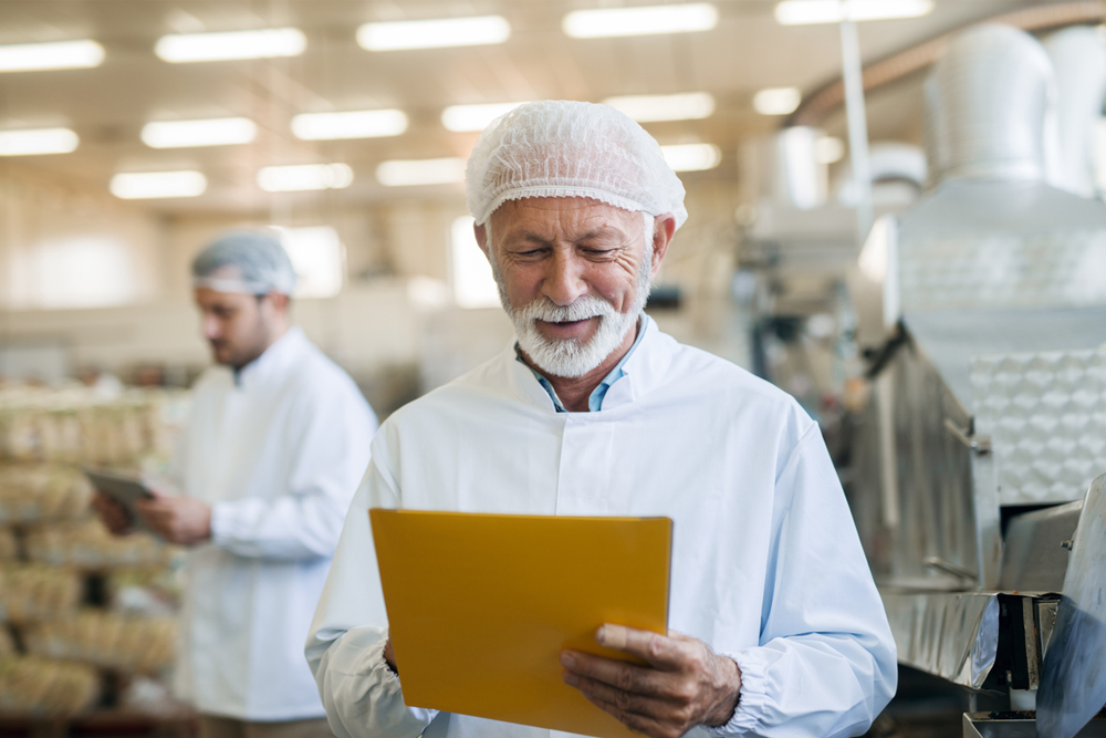
<svg viewBox="0 0 1106 738">
<path fill-rule="evenodd" d="M 354 392 L 313 392 L 275 433 L 289 449 L 286 493 L 211 507 L 211 541 L 240 557 L 284 561 L 334 553 L 376 430 Z"/>
</svg>

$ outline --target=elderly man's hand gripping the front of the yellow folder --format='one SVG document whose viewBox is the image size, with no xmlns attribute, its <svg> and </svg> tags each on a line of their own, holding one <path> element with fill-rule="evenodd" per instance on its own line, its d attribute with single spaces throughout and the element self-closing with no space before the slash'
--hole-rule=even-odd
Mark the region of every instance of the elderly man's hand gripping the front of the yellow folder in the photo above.
<svg viewBox="0 0 1106 738">
<path fill-rule="evenodd" d="M 741 692 L 741 671 L 706 643 L 604 625 L 601 646 L 648 662 L 638 666 L 578 651 L 561 652 L 562 678 L 628 727 L 653 738 L 678 738 L 696 726 L 729 723 Z"/>
</svg>

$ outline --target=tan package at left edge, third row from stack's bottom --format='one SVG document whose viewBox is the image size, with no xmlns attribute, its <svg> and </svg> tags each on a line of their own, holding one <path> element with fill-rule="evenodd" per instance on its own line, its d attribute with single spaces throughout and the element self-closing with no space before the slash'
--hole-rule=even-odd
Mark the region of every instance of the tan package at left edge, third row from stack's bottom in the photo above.
<svg viewBox="0 0 1106 738">
<path fill-rule="evenodd" d="M 0 565 L 0 621 L 29 623 L 72 614 L 83 582 L 73 571 L 39 563 Z"/>
</svg>

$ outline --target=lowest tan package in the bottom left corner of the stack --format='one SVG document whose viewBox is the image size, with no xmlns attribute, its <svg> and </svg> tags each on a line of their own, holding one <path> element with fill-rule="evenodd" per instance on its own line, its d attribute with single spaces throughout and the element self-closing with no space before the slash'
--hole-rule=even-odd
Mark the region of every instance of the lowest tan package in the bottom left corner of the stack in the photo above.
<svg viewBox="0 0 1106 738">
<path fill-rule="evenodd" d="M 96 703 L 100 675 L 82 664 L 0 657 L 0 714 L 65 717 Z"/>
</svg>

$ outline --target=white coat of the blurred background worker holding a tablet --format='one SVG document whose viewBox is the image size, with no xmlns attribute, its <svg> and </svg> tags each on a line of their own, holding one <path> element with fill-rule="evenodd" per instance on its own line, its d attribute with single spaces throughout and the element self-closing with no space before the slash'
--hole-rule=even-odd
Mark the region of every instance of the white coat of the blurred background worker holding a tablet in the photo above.
<svg viewBox="0 0 1106 738">
<path fill-rule="evenodd" d="M 212 506 L 211 541 L 188 555 L 176 683 L 200 713 L 323 716 L 302 644 L 375 430 L 298 328 L 237 383 L 226 367 L 196 383 L 177 471 Z"/>
</svg>

